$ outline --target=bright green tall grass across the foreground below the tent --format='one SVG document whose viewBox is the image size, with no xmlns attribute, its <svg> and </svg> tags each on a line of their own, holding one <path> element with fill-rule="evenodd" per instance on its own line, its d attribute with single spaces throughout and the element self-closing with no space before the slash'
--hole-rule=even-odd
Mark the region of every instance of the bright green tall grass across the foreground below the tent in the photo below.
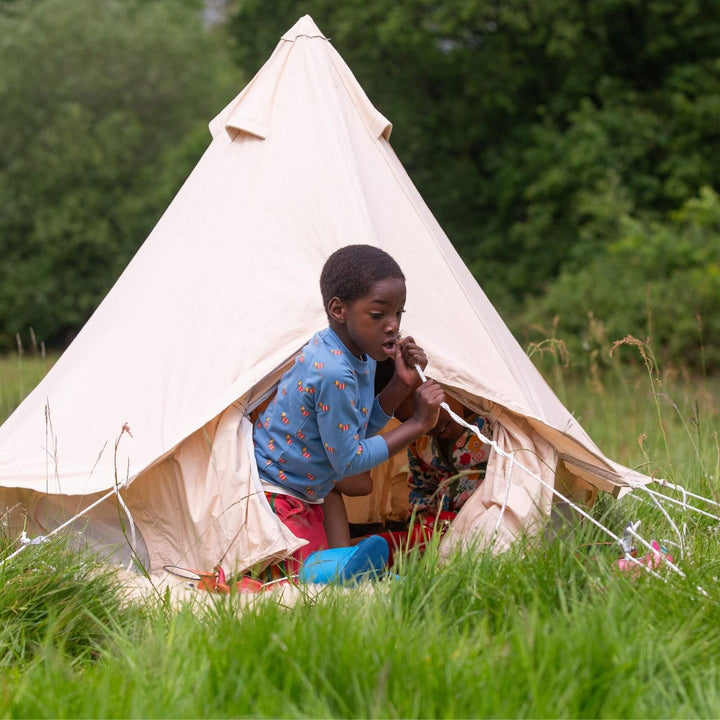
<svg viewBox="0 0 720 720">
<path fill-rule="evenodd" d="M 68 663 L 53 631 L 3 679 L 13 717 L 717 717 L 720 604 L 632 580 L 592 533 L 411 558 L 399 579 L 202 613 L 155 606 Z M 601 547 L 601 546 L 600 546 Z M 715 552 L 715 557 L 717 553 Z M 708 559 L 708 558 L 705 558 Z M 80 609 L 79 607 L 77 608 Z"/>
</svg>

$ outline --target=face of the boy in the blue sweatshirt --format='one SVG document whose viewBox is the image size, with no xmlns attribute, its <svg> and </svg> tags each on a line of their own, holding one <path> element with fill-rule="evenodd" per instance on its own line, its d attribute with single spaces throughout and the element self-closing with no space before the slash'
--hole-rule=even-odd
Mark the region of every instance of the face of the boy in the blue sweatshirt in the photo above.
<svg viewBox="0 0 720 720">
<path fill-rule="evenodd" d="M 357 357 L 369 355 L 381 361 L 395 356 L 400 318 L 405 310 L 405 281 L 385 278 L 372 285 L 367 295 L 328 303 L 331 327 Z"/>
</svg>

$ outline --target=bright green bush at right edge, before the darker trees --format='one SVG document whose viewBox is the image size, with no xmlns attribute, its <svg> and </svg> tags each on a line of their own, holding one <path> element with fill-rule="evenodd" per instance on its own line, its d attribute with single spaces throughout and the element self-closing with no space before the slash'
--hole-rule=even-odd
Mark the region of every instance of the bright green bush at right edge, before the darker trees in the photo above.
<svg viewBox="0 0 720 720">
<path fill-rule="evenodd" d="M 523 326 L 547 336 L 555 324 L 580 367 L 609 360 L 608 339 L 633 335 L 664 363 L 720 368 L 720 196 L 705 187 L 663 220 L 626 215 L 619 225 L 604 254 L 528 305 Z"/>
</svg>

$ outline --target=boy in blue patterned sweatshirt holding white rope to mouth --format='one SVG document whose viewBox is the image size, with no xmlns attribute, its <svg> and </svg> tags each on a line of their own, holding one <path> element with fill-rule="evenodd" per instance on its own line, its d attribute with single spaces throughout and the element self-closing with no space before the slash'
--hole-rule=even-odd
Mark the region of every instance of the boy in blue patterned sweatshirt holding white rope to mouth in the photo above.
<svg viewBox="0 0 720 720">
<path fill-rule="evenodd" d="M 430 430 L 445 397 L 428 380 L 415 391 L 408 420 L 376 435 L 415 386 L 415 365 L 427 365 L 412 338 L 398 339 L 405 276 L 379 248 L 349 245 L 328 258 L 320 290 L 328 327 L 295 358 L 254 429 L 270 506 L 295 535 L 308 540 L 294 562 L 286 561 L 290 572 L 328 547 L 324 498 L 333 490 L 369 492 L 370 468 Z M 375 397 L 375 365 L 388 357 L 394 358 L 395 373 Z"/>
</svg>

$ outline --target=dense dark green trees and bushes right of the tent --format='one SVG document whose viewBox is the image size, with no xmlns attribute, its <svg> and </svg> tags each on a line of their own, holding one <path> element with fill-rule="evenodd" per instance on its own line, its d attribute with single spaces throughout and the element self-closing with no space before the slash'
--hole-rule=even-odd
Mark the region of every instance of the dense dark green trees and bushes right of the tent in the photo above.
<svg viewBox="0 0 720 720">
<path fill-rule="evenodd" d="M 410 176 L 518 336 L 552 313 L 572 336 L 592 310 L 644 337 L 649 293 L 670 328 L 658 349 L 694 362 L 696 316 L 720 322 L 720 224 L 677 215 L 718 184 L 720 5 L 244 0 L 241 66 L 306 12 L 394 122 Z"/>
</svg>

